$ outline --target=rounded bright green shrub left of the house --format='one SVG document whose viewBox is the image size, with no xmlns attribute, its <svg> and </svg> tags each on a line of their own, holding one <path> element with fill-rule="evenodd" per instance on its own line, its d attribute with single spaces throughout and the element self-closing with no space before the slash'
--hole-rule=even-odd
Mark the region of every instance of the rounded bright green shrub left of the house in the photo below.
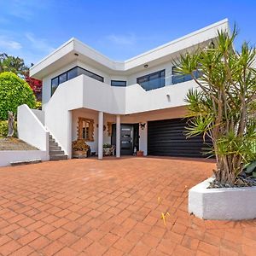
<svg viewBox="0 0 256 256">
<path fill-rule="evenodd" d="M 8 119 L 8 111 L 17 113 L 17 108 L 26 104 L 36 107 L 36 98 L 30 86 L 15 73 L 0 73 L 0 120 Z"/>
</svg>

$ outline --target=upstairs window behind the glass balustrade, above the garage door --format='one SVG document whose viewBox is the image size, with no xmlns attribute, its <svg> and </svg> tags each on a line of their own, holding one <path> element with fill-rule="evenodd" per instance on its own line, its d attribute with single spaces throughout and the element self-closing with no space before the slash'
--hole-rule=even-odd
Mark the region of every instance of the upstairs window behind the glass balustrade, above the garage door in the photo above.
<svg viewBox="0 0 256 256">
<path fill-rule="evenodd" d="M 166 71 L 161 70 L 155 73 L 149 73 L 143 77 L 137 78 L 137 84 L 140 84 L 144 90 L 154 90 L 165 86 Z"/>
</svg>

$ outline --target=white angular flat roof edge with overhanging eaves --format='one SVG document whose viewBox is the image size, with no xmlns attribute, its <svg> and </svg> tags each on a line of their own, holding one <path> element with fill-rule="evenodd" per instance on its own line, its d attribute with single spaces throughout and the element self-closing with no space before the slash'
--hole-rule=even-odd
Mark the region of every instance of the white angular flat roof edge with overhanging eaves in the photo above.
<svg viewBox="0 0 256 256">
<path fill-rule="evenodd" d="M 108 56 L 102 55 L 102 53 L 82 43 L 77 38 L 70 38 L 66 43 L 61 44 L 60 47 L 32 66 L 30 73 L 32 77 L 43 79 L 44 76 L 54 72 L 61 66 L 64 67 L 68 63 L 78 59 L 79 61 L 88 62 L 95 67 L 103 68 L 110 73 L 126 72 L 148 62 L 163 62 L 168 55 L 216 38 L 217 31 L 223 29 L 229 29 L 228 19 L 220 20 L 210 26 L 191 32 L 169 43 L 162 44 L 126 61 L 113 61 Z"/>
</svg>

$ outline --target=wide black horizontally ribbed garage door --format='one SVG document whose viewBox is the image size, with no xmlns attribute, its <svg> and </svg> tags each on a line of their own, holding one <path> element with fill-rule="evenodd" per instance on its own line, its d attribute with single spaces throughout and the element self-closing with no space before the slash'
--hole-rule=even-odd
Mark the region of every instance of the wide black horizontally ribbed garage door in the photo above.
<svg viewBox="0 0 256 256">
<path fill-rule="evenodd" d="M 165 119 L 148 122 L 148 155 L 207 157 L 211 141 L 202 136 L 186 138 L 188 119 Z"/>
</svg>

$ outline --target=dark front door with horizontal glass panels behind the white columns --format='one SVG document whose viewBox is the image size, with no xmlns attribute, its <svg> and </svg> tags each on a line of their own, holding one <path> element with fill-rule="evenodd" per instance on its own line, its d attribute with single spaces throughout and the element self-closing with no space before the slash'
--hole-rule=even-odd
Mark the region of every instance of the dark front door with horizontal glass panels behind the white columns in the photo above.
<svg viewBox="0 0 256 256">
<path fill-rule="evenodd" d="M 133 125 L 121 125 L 121 154 L 133 153 Z"/>
</svg>

